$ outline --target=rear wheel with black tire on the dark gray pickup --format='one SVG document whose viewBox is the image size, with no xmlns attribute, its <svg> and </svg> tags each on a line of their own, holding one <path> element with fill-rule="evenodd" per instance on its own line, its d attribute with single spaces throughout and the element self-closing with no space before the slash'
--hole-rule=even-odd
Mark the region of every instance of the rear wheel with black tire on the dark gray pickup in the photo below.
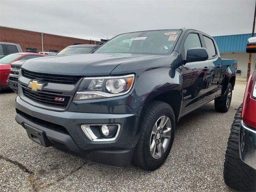
<svg viewBox="0 0 256 192">
<path fill-rule="evenodd" d="M 214 100 L 214 108 L 218 112 L 226 113 L 229 110 L 230 103 L 232 100 L 232 90 L 233 87 L 231 83 L 228 83 L 228 87 L 226 89 L 226 93 L 222 97 L 218 97 Z M 229 97 L 230 93 L 230 97 Z M 227 104 L 227 100 L 229 100 L 229 103 Z"/>
</svg>

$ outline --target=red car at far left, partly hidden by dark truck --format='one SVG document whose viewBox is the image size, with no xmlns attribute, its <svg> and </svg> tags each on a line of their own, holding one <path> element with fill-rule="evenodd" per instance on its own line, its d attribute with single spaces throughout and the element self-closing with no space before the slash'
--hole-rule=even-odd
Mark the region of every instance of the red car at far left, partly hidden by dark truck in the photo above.
<svg viewBox="0 0 256 192">
<path fill-rule="evenodd" d="M 10 74 L 11 63 L 18 60 L 28 60 L 36 57 L 44 57 L 46 55 L 38 53 L 13 53 L 0 59 L 0 90 L 9 88 L 6 84 L 8 75 Z"/>
</svg>

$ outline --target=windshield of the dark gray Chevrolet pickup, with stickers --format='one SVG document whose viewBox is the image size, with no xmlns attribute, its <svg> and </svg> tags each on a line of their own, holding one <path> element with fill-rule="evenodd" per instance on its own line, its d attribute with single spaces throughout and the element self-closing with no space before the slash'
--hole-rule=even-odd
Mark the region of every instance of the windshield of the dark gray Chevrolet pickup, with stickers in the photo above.
<svg viewBox="0 0 256 192">
<path fill-rule="evenodd" d="M 168 54 L 180 32 L 160 30 L 121 34 L 104 43 L 94 53 Z"/>
</svg>

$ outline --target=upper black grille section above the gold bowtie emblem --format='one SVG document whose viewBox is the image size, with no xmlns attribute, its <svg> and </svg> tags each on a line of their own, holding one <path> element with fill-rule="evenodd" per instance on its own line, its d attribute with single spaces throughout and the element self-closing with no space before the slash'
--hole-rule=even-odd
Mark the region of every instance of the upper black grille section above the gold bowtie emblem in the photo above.
<svg viewBox="0 0 256 192">
<path fill-rule="evenodd" d="M 44 82 L 58 84 L 76 84 L 80 80 L 80 78 L 83 77 L 74 75 L 37 73 L 28 70 L 22 70 L 22 76 L 29 79 L 42 79 Z"/>
</svg>

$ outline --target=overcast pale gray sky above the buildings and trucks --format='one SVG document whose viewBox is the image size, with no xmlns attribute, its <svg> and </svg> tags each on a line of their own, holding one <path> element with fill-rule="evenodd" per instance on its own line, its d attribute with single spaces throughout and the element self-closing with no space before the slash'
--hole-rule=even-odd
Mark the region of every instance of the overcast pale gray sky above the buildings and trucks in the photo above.
<svg viewBox="0 0 256 192">
<path fill-rule="evenodd" d="M 0 0 L 0 26 L 100 40 L 125 32 L 193 28 L 252 32 L 255 0 Z"/>
</svg>

